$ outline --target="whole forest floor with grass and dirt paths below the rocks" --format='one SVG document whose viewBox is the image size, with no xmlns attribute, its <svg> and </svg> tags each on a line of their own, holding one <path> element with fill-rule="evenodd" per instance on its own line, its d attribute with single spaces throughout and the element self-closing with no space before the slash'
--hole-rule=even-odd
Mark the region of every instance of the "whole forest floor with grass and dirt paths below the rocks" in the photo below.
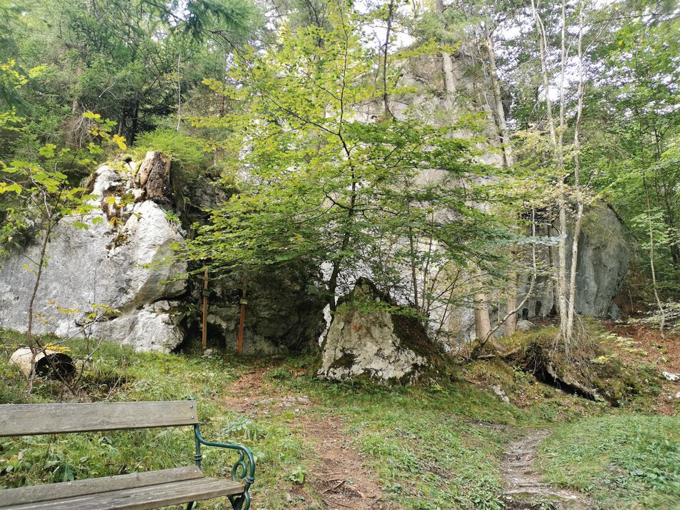
<svg viewBox="0 0 680 510">
<path fill-rule="evenodd" d="M 679 371 L 679 339 L 610 326 L 611 355 L 644 365 L 645 377 L 656 374 L 646 383 L 651 391 L 619 407 L 495 360 L 388 388 L 318 381 L 309 357 L 136 354 L 106 343 L 83 378 L 82 398 L 196 397 L 207 439 L 254 451 L 254 510 L 676 508 L 680 388 L 661 371 Z M 84 344 L 69 345 L 81 355 Z M 0 403 L 26 401 L 5 360 Z M 41 380 L 30 401 L 64 396 L 58 383 Z M 191 431 L 175 429 L 1 439 L 0 486 L 181 465 L 191 446 Z M 229 461 L 206 449 L 209 474 L 225 474 Z"/>
</svg>

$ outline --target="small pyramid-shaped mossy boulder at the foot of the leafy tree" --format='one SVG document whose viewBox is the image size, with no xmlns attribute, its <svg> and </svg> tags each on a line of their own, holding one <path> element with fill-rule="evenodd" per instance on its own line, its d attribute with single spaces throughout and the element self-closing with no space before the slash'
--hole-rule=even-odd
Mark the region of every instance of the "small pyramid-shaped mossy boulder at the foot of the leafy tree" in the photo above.
<svg viewBox="0 0 680 510">
<path fill-rule="evenodd" d="M 416 352 L 414 337 L 428 342 L 423 327 L 404 316 L 370 304 L 386 303 L 366 279 L 336 310 L 326 334 L 321 369 L 324 379 L 342 380 L 368 376 L 379 381 L 415 379 L 429 366 Z"/>
</svg>

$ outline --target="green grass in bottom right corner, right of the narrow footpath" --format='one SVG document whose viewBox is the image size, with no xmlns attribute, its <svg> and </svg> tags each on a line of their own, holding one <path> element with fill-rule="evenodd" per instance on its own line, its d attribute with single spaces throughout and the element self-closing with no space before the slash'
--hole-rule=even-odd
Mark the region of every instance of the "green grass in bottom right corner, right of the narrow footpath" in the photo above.
<svg viewBox="0 0 680 510">
<path fill-rule="evenodd" d="M 680 508 L 680 418 L 601 416 L 562 424 L 541 445 L 546 480 L 603 509 Z"/>
</svg>

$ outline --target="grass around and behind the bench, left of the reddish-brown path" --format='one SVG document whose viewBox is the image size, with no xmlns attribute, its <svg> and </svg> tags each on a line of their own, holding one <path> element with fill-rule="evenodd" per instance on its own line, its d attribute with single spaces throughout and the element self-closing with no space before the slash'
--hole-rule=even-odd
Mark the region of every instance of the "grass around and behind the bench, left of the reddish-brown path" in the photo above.
<svg viewBox="0 0 680 510">
<path fill-rule="evenodd" d="M 20 336 L 10 338 L 21 341 Z M 87 351 L 83 340 L 68 345 L 76 359 Z M 36 379 L 33 393 L 26 397 L 24 378 L 8 357 L 0 359 L 0 404 L 76 400 L 61 391 L 58 381 L 42 378 Z M 225 386 L 246 369 L 221 356 L 136 353 L 101 342 L 84 372 L 78 400 L 161 401 L 193 396 L 206 439 L 244 444 L 256 456 L 257 483 L 252 494 L 257 508 L 284 508 L 286 491 L 280 489 L 284 474 L 305 465 L 309 447 L 291 431 L 291 416 L 244 416 L 222 401 Z M 231 476 L 233 453 L 210 447 L 203 453 L 209 476 Z M 193 456 L 191 427 L 1 438 L 0 488 L 188 466 Z M 226 506 L 215 499 L 201 508 Z"/>
</svg>

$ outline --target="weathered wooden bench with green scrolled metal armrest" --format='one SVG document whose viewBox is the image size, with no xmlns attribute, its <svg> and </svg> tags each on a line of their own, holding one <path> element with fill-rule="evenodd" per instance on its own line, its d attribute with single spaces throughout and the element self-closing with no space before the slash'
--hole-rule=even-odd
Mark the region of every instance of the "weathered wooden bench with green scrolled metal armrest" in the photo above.
<svg viewBox="0 0 680 510">
<path fill-rule="evenodd" d="M 199 430 L 196 401 L 101 402 L 96 404 L 0 405 L 0 436 L 66 434 L 154 427 L 194 426 L 195 466 L 105 478 L 0 490 L 0 509 L 113 510 L 155 509 L 226 496 L 234 510 L 250 507 L 255 461 L 245 446 L 206 441 Z M 206 478 L 201 446 L 233 449 L 239 459 L 231 480 Z"/>
</svg>

